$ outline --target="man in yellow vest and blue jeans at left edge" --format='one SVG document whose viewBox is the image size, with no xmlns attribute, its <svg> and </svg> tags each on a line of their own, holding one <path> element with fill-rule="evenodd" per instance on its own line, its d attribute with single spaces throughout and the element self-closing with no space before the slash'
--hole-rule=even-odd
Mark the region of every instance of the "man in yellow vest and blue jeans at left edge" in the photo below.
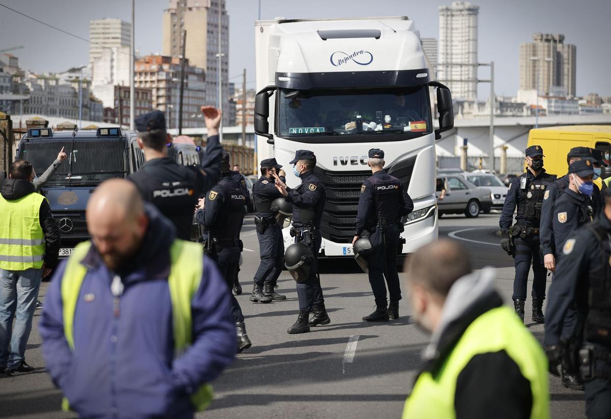
<svg viewBox="0 0 611 419">
<path fill-rule="evenodd" d="M 0 190 L 0 371 L 7 374 L 34 371 L 25 360 L 27 339 L 40 281 L 59 253 L 57 223 L 33 179 L 32 165 L 17 160 Z"/>
</svg>

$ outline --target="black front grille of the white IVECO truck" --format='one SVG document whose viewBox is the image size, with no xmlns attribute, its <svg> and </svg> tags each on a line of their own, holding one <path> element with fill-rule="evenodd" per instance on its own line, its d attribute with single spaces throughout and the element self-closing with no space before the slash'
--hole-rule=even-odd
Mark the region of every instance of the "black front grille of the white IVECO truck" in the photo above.
<svg viewBox="0 0 611 419">
<path fill-rule="evenodd" d="M 415 156 L 397 163 L 386 171 L 398 177 L 407 190 L 414 163 Z M 323 220 L 320 226 L 322 236 L 335 243 L 352 242 L 360 187 L 363 181 L 371 176 L 371 171 L 334 172 L 319 167 L 316 167 L 314 171 L 327 190 L 327 201 L 324 204 Z"/>
</svg>

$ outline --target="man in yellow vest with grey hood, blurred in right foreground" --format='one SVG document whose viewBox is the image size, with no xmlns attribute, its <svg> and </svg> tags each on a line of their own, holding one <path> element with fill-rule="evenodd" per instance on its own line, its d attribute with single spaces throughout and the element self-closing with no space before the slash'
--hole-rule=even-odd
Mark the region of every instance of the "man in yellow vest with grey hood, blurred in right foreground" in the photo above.
<svg viewBox="0 0 611 419">
<path fill-rule="evenodd" d="M 403 419 L 549 418 L 547 360 L 494 289 L 494 269 L 439 240 L 408 259 L 414 319 L 432 333 Z"/>
</svg>

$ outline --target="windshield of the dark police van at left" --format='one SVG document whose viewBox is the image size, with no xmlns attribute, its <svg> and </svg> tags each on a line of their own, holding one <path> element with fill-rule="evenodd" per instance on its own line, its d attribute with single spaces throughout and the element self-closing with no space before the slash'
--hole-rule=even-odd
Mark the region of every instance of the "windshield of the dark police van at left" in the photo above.
<svg viewBox="0 0 611 419">
<path fill-rule="evenodd" d="M 113 177 L 125 177 L 124 138 L 36 138 L 23 141 L 20 158 L 32 163 L 37 176 L 51 166 L 65 147 L 67 160 L 46 186 L 97 185 Z"/>
</svg>

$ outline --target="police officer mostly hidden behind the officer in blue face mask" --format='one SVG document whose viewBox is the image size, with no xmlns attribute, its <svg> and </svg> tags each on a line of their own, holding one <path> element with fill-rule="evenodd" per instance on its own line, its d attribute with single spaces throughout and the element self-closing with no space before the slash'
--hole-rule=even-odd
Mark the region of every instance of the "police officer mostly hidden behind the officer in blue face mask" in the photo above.
<svg viewBox="0 0 611 419">
<path fill-rule="evenodd" d="M 588 147 L 573 147 L 569 150 L 566 155 L 566 163 L 570 165 L 574 161 L 590 160 L 593 163 L 595 158 L 591 154 L 591 149 Z M 554 272 L 556 259 L 555 259 L 555 248 L 557 247 L 554 243 L 554 220 L 553 212 L 556 199 L 561 196 L 566 188 L 569 186 L 569 174 L 566 174 L 560 179 L 555 180 L 554 183 L 549 185 L 546 192 L 543 195 L 543 207 L 541 209 L 541 224 L 540 224 L 540 237 L 541 237 L 541 250 L 543 251 L 543 265 L 546 269 Z M 592 195 L 594 198 L 591 200 L 592 209 L 594 213 L 601 207 L 601 198 L 597 198 L 598 187 L 595 188 Z M 563 243 L 560 243 L 562 246 Z"/>
</svg>

